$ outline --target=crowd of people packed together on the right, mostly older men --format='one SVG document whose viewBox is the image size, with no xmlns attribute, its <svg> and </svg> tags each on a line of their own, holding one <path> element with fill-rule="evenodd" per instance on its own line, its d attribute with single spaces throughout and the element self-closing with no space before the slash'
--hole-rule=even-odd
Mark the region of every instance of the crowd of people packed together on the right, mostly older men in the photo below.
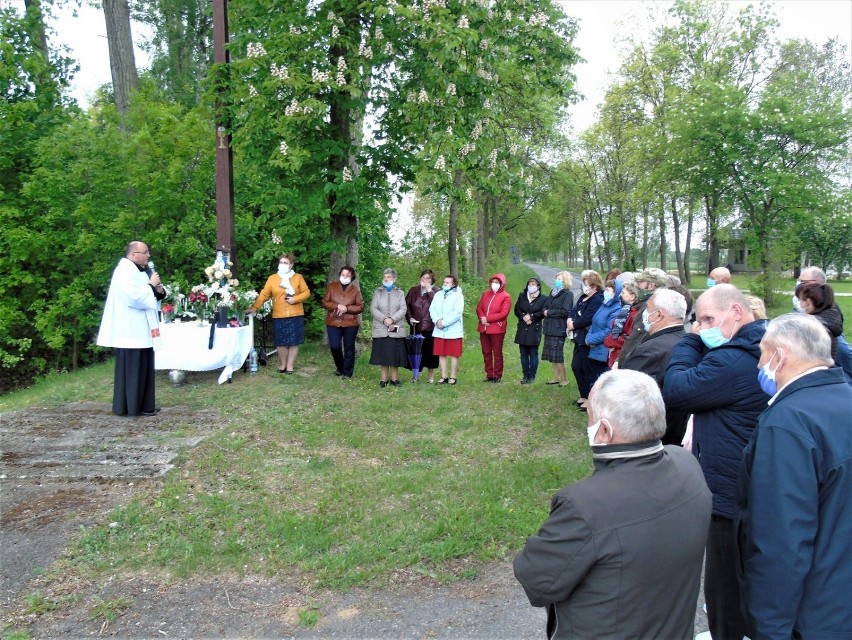
<svg viewBox="0 0 852 640">
<path fill-rule="evenodd" d="M 572 364 L 595 471 L 514 562 L 548 637 L 692 638 L 702 566 L 714 640 L 852 637 L 852 357 L 825 275 L 771 321 L 724 268 L 693 314 L 661 270 L 610 275 Z"/>
</svg>

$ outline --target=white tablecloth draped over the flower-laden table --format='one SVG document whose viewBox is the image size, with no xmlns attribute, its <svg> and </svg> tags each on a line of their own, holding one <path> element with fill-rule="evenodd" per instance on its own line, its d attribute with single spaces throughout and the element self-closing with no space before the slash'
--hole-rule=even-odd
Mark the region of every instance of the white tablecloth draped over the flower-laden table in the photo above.
<svg viewBox="0 0 852 640">
<path fill-rule="evenodd" d="M 235 369 L 243 366 L 254 342 L 254 318 L 249 316 L 245 327 L 216 327 L 213 348 L 210 326 L 195 322 L 172 322 L 160 325 L 163 347 L 154 352 L 156 369 L 212 371 L 224 367 L 219 384 L 231 378 Z"/>
</svg>

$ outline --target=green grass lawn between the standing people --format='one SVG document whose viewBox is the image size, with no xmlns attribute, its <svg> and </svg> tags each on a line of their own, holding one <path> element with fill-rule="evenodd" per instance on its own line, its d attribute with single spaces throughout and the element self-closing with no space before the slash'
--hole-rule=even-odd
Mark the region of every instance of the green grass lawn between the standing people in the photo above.
<svg viewBox="0 0 852 640">
<path fill-rule="evenodd" d="M 530 274 L 508 271 L 513 298 Z M 552 494 L 591 471 L 591 454 L 576 387 L 546 386 L 548 363 L 537 384 L 518 384 L 514 316 L 504 382 L 482 382 L 480 294 L 465 292 L 456 387 L 413 384 L 406 371 L 404 386 L 379 389 L 369 354 L 346 383 L 316 342 L 292 376 L 278 375 L 272 360 L 256 376 L 238 372 L 233 384 L 190 374 L 175 389 L 158 372 L 159 404 L 216 409 L 219 429 L 162 483 L 82 531 L 59 570 L 287 572 L 346 588 L 381 584 L 402 568 L 471 577 L 475 570 L 458 567 L 511 557 L 547 517 Z M 111 395 L 108 363 L 0 397 L 0 412 Z"/>
</svg>

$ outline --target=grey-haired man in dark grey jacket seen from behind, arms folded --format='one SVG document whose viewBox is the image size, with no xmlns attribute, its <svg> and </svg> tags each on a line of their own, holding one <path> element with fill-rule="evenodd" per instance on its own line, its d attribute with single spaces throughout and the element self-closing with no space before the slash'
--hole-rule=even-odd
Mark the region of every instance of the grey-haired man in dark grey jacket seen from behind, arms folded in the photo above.
<svg viewBox="0 0 852 640">
<path fill-rule="evenodd" d="M 515 558 L 548 638 L 692 640 L 711 497 L 694 457 L 663 446 L 657 383 L 609 371 L 589 394 L 591 477 L 559 491 Z"/>
</svg>

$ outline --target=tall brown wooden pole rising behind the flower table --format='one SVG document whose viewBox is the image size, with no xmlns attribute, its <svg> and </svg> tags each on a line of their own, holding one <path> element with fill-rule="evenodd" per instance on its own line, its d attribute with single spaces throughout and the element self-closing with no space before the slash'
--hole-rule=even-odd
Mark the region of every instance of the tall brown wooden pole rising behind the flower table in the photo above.
<svg viewBox="0 0 852 640">
<path fill-rule="evenodd" d="M 213 62 L 227 65 L 228 0 L 213 0 Z M 229 70 L 224 69 L 225 77 Z M 216 99 L 216 250 L 236 265 L 234 245 L 234 155 L 228 125 L 227 83 L 221 82 Z"/>
</svg>

